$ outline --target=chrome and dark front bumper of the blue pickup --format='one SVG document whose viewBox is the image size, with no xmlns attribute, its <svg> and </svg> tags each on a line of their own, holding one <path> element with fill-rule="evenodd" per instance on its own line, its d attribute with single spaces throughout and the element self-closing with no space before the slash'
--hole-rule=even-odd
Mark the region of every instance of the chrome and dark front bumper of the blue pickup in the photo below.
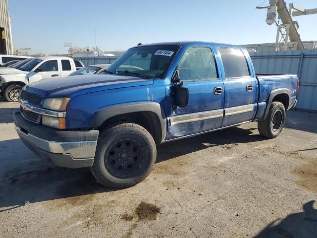
<svg viewBox="0 0 317 238">
<path fill-rule="evenodd" d="M 15 129 L 22 142 L 42 159 L 67 168 L 91 167 L 98 130 L 59 130 L 36 125 L 14 112 Z"/>
</svg>

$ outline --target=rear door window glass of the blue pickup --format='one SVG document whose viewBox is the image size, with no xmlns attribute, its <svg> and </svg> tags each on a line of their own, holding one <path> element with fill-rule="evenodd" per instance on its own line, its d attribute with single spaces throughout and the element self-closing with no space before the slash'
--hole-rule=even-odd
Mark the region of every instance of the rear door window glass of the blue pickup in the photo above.
<svg viewBox="0 0 317 238">
<path fill-rule="evenodd" d="M 243 52 L 239 49 L 220 48 L 226 78 L 250 76 L 250 70 Z"/>
</svg>

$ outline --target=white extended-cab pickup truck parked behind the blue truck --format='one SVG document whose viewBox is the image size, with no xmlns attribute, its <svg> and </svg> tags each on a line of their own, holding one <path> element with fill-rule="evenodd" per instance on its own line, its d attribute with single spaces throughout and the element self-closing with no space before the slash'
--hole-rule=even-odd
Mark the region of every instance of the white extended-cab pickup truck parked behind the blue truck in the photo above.
<svg viewBox="0 0 317 238">
<path fill-rule="evenodd" d="M 68 57 L 39 57 L 28 61 L 19 69 L 0 70 L 0 95 L 9 102 L 16 102 L 24 85 L 44 78 L 67 76 L 76 71 L 78 64 L 82 63 Z"/>
</svg>

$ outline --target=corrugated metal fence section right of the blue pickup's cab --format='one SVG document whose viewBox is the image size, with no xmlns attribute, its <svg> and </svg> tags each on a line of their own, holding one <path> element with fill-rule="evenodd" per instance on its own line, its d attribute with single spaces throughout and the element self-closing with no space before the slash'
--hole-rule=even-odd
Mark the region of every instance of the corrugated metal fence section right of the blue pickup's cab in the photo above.
<svg viewBox="0 0 317 238">
<path fill-rule="evenodd" d="M 317 51 L 250 53 L 256 73 L 297 74 L 300 90 L 296 109 L 317 112 Z"/>
</svg>

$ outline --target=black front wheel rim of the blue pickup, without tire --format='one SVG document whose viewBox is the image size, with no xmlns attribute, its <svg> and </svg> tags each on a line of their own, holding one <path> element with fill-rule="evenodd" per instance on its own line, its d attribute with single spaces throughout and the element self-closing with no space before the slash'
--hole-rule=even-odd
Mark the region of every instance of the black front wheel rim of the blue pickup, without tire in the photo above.
<svg viewBox="0 0 317 238">
<path fill-rule="evenodd" d="M 144 162 L 146 143 L 134 138 L 122 138 L 108 147 L 105 153 L 107 171 L 119 179 L 133 178 L 147 168 Z"/>
</svg>

